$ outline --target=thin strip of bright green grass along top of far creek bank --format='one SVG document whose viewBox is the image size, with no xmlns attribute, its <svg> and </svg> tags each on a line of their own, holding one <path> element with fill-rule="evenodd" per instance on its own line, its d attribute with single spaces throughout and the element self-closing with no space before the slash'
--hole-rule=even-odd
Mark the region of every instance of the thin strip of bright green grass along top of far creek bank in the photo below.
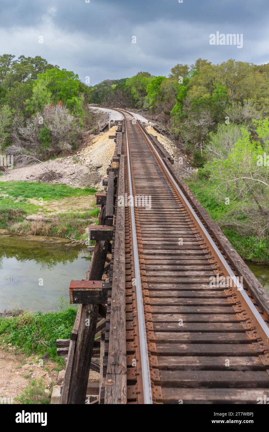
<svg viewBox="0 0 269 432">
<path fill-rule="evenodd" d="M 94 187 L 71 187 L 66 184 L 50 184 L 30 181 L 5 181 L 0 183 L 0 193 L 8 194 L 10 197 L 23 197 L 39 200 L 57 200 L 64 197 L 81 197 L 83 195 L 93 195 Z"/>
</svg>

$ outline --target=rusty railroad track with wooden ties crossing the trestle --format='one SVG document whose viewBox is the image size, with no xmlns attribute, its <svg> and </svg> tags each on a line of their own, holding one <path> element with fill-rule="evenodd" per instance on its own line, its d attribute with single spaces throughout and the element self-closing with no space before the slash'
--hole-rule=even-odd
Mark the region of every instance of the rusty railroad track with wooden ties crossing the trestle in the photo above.
<svg viewBox="0 0 269 432">
<path fill-rule="evenodd" d="M 125 118 L 125 193 L 140 197 L 140 204 L 148 197 L 147 206 L 125 207 L 125 402 L 257 403 L 269 397 L 266 311 L 244 278 L 235 278 L 233 263 L 154 141 L 130 113 L 118 111 Z M 225 284 L 212 286 L 218 276 Z"/>
</svg>

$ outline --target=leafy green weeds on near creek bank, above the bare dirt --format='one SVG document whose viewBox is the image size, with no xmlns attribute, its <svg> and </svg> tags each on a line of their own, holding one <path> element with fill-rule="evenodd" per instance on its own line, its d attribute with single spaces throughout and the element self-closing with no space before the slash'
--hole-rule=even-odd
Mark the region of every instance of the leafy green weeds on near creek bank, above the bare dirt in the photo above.
<svg viewBox="0 0 269 432">
<path fill-rule="evenodd" d="M 59 312 L 23 313 L 16 317 L 0 317 L 1 342 L 11 343 L 18 351 L 39 357 L 45 353 L 59 365 L 62 357 L 57 357 L 56 340 L 70 339 L 76 319 L 76 309 L 67 307 Z"/>
</svg>

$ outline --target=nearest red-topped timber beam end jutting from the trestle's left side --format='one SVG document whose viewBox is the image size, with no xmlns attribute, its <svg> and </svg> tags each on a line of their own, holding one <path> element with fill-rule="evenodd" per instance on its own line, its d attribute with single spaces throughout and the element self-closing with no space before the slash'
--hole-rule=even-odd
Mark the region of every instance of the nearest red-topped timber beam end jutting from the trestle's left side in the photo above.
<svg viewBox="0 0 269 432">
<path fill-rule="evenodd" d="M 70 304 L 100 305 L 107 303 L 111 284 L 103 280 L 71 280 Z"/>
</svg>

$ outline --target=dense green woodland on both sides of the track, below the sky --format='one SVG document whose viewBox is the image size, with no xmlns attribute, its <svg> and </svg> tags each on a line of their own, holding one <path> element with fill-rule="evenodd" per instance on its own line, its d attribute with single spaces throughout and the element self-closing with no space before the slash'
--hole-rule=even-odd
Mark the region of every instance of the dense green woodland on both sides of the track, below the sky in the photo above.
<svg viewBox="0 0 269 432">
<path fill-rule="evenodd" d="M 89 103 L 143 111 L 165 125 L 198 172 L 194 193 L 243 257 L 269 260 L 269 64 L 177 64 L 87 86 L 37 57 L 0 57 L 0 154 L 16 162 L 76 149 Z M 267 156 L 268 155 L 268 156 Z"/>
</svg>

